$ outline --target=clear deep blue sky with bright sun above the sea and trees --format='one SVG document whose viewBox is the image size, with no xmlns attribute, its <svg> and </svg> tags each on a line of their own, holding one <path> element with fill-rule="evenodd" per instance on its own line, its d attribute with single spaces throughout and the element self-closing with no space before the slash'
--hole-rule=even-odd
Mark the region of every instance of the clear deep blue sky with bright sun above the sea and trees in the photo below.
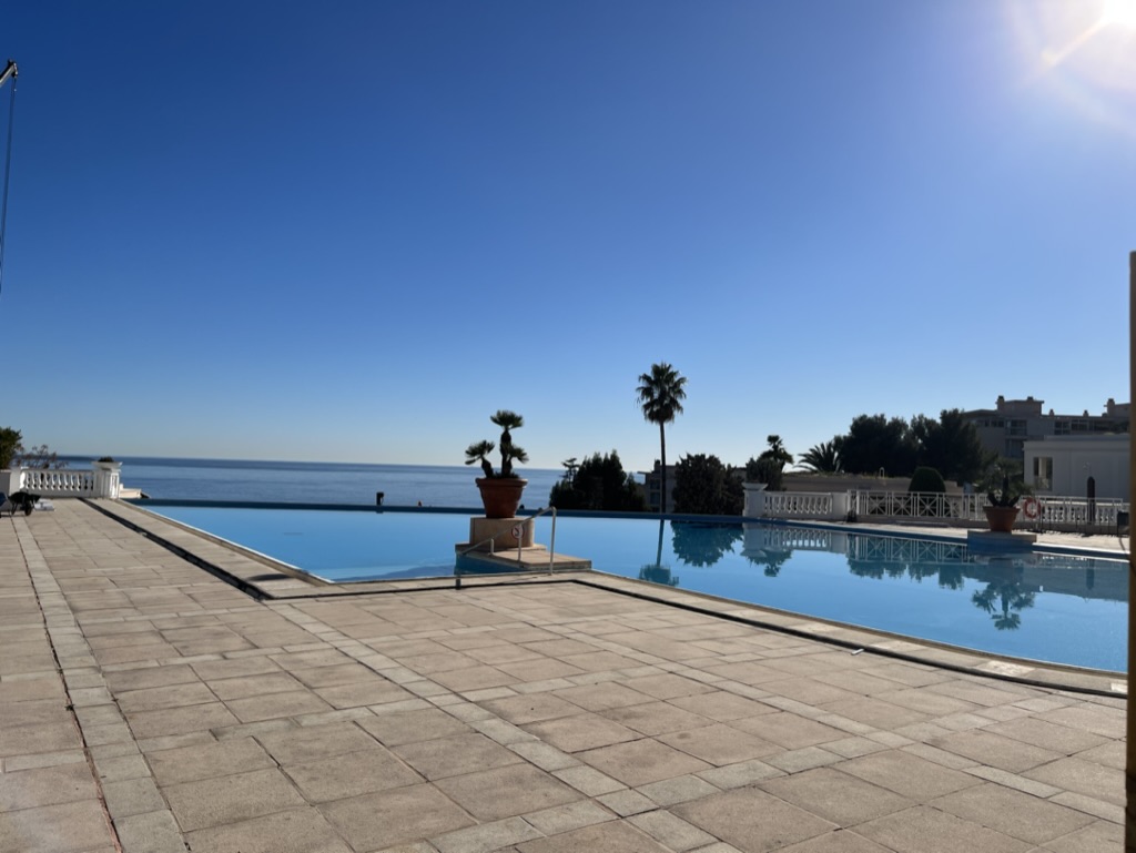
<svg viewBox="0 0 1136 853">
<path fill-rule="evenodd" d="M 14 5 L 0 426 L 454 465 L 509 408 L 534 466 L 643 469 L 655 361 L 670 459 L 1099 413 L 1136 249 L 1136 34 L 1101 8 Z"/>
</svg>

